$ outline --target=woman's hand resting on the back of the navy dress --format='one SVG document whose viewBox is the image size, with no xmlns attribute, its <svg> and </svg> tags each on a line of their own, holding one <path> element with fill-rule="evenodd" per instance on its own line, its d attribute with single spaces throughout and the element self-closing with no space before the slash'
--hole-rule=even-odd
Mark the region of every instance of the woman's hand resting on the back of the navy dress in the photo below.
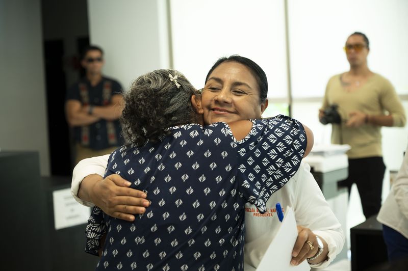
<svg viewBox="0 0 408 271">
<path fill-rule="evenodd" d="M 146 200 L 147 195 L 145 193 L 129 188 L 130 185 L 131 182 L 117 174 L 112 174 L 97 181 L 92 186 L 89 196 L 93 204 L 110 216 L 134 221 L 135 216 L 133 214 L 144 213 L 145 207 L 148 207 L 150 202 Z"/>
</svg>

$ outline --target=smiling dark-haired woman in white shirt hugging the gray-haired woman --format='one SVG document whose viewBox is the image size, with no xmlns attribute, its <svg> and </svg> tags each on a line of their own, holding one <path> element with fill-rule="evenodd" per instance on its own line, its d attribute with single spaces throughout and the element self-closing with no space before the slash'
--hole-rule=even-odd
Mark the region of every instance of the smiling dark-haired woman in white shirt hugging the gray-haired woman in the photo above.
<svg viewBox="0 0 408 271">
<path fill-rule="evenodd" d="M 265 73 L 256 63 L 239 56 L 221 58 L 209 71 L 205 88 L 201 93 L 203 121 L 206 125 L 214 122 L 224 122 L 215 123 L 215 125 L 225 125 L 225 122 L 231 125 L 231 121 L 261 118 L 262 112 L 268 105 L 266 100 L 267 91 L 268 84 Z M 264 120 L 255 121 L 258 123 L 258 121 L 262 122 Z M 282 130 L 279 130 L 280 128 Z M 261 171 L 264 169 L 274 171 L 274 166 L 268 160 L 275 157 L 275 152 L 280 148 L 276 136 L 280 137 L 279 134 L 286 129 L 280 128 L 275 130 L 276 134 L 268 136 L 268 142 L 265 142 L 266 145 L 259 148 L 259 151 L 263 152 L 264 147 L 270 147 L 267 151 L 268 158 L 261 159 L 263 161 L 261 164 L 257 164 L 252 158 L 248 158 L 243 164 L 245 169 L 255 168 L 258 171 L 259 167 Z M 251 133 L 250 135 L 253 136 Z M 247 134 L 244 134 L 243 137 L 239 138 L 245 137 L 247 139 L 247 136 Z M 310 139 L 308 136 L 308 145 L 312 141 Z M 216 139 L 215 142 L 218 142 L 218 140 Z M 218 146 L 218 149 L 220 149 L 220 146 Z M 257 151 L 252 146 L 250 150 Z M 194 151 L 194 153 L 199 152 Z M 204 151 L 204 153 L 207 152 Z M 287 154 L 289 153 L 290 151 Z M 234 161 L 234 157 L 236 157 L 235 155 L 226 157 L 223 154 L 220 154 L 220 156 L 223 161 L 227 160 L 228 163 Z M 82 200 L 95 203 L 114 218 L 130 222 L 139 221 L 141 216 L 137 214 L 145 212 L 148 214 L 150 211 L 154 211 L 152 206 L 157 204 L 160 199 L 154 200 L 151 193 L 147 196 L 136 189 L 124 187 L 131 185 L 131 182 L 126 182 L 127 177 L 122 178 L 115 174 L 105 179 L 101 177 L 104 175 L 108 157 L 109 155 L 84 160 L 75 167 L 75 177 L 72 179 L 72 194 L 82 203 L 84 203 Z M 214 155 L 214 153 L 211 155 L 211 159 L 216 157 L 219 156 Z M 291 160 L 287 166 L 293 162 L 296 161 Z M 185 166 L 183 162 L 181 164 L 183 164 L 183 167 Z M 217 169 L 220 168 L 217 167 Z M 171 169 L 172 167 L 168 169 L 168 173 L 173 174 L 174 170 Z M 143 169 L 138 167 L 135 171 L 143 171 Z M 176 171 L 179 171 L 179 169 L 176 169 Z M 91 173 L 97 175 L 89 175 Z M 155 178 L 155 184 L 158 179 Z M 261 176 L 261 178 L 254 179 L 258 181 L 265 178 Z M 81 180 L 83 180 L 81 189 L 78 191 Z M 127 180 L 133 181 L 132 179 Z M 228 181 L 223 181 L 228 180 L 225 178 L 218 178 L 218 180 L 219 183 L 225 185 L 228 183 Z M 209 189 L 214 190 L 211 187 Z M 149 205 L 146 197 L 151 201 L 151 205 Z M 292 206 L 295 210 L 296 223 L 299 225 L 298 239 L 293 248 L 291 264 L 297 265 L 307 259 L 312 267 L 323 268 L 327 266 L 341 251 L 344 244 L 344 234 L 336 216 L 331 211 L 319 186 L 311 175 L 310 167 L 307 164 L 300 163 L 297 173 L 266 202 L 266 210 L 274 208 L 276 202 L 280 202 L 283 206 Z M 248 211 L 257 207 L 251 203 L 246 203 L 245 207 L 247 211 L 244 210 L 246 226 L 243 256 L 245 269 L 251 270 L 256 268 L 261 261 L 268 243 L 276 234 L 275 229 L 278 228 L 277 223 L 279 222 L 271 218 L 273 214 L 256 216 Z M 135 225 L 139 224 L 136 223 Z M 318 240 L 321 240 L 321 242 Z M 216 259 L 218 260 L 218 258 Z"/>
</svg>

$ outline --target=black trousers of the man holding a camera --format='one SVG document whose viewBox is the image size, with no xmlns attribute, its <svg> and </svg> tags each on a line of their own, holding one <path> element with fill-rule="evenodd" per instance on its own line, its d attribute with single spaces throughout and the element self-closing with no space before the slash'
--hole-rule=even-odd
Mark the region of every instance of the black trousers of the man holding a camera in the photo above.
<svg viewBox="0 0 408 271">
<path fill-rule="evenodd" d="M 348 159 L 348 178 L 339 181 L 339 186 L 348 188 L 355 183 L 359 189 L 361 205 L 366 219 L 378 213 L 381 207 L 382 180 L 386 166 L 382 157 Z"/>
</svg>

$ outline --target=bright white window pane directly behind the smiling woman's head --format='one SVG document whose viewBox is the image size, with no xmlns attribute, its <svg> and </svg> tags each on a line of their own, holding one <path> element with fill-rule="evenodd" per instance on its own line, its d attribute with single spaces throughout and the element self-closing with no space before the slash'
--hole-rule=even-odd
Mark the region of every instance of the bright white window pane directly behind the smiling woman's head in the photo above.
<svg viewBox="0 0 408 271">
<path fill-rule="evenodd" d="M 174 68 L 200 89 L 220 57 L 241 55 L 268 76 L 269 97 L 287 97 L 284 1 L 173 0 Z"/>
</svg>

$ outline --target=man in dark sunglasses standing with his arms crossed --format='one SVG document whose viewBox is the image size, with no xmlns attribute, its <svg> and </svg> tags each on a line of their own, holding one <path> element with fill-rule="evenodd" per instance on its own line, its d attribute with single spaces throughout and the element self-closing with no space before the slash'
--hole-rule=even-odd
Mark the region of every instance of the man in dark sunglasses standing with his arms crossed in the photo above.
<svg viewBox="0 0 408 271">
<path fill-rule="evenodd" d="M 67 92 L 65 111 L 67 122 L 73 127 L 75 164 L 110 153 L 123 144 L 118 120 L 122 113 L 122 87 L 102 75 L 103 55 L 98 46 L 85 48 L 81 65 L 86 75 Z"/>
</svg>

